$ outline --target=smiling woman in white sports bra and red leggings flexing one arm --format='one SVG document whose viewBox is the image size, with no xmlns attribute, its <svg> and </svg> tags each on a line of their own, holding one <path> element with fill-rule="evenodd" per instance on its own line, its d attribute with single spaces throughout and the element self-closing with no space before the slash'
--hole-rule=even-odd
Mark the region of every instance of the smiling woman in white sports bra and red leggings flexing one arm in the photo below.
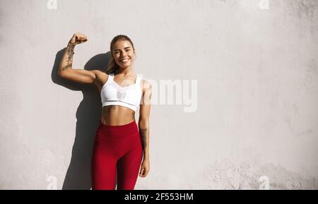
<svg viewBox="0 0 318 204">
<path fill-rule="evenodd" d="M 117 190 L 134 190 L 138 174 L 146 177 L 150 170 L 151 84 L 134 73 L 136 53 L 126 35 L 117 35 L 110 43 L 107 71 L 73 69 L 73 49 L 87 40 L 78 32 L 71 37 L 59 64 L 59 76 L 78 83 L 94 83 L 100 90 L 102 119 L 94 140 L 92 189 L 114 190 L 117 178 Z"/>
</svg>

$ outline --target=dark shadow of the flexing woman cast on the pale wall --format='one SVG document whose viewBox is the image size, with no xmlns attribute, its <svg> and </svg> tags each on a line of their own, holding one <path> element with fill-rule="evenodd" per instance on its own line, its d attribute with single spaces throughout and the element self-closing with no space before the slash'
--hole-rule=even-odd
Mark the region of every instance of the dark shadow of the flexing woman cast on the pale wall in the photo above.
<svg viewBox="0 0 318 204">
<path fill-rule="evenodd" d="M 83 100 L 76 112 L 76 132 L 72 149 L 71 162 L 66 172 L 62 189 L 90 189 L 90 157 L 93 151 L 95 133 L 101 119 L 100 92 L 95 84 L 81 84 L 60 78 L 59 62 L 64 49 L 57 52 L 52 70 L 52 80 L 69 90 L 83 92 Z M 86 70 L 106 71 L 110 52 L 93 56 L 84 66 Z M 65 100 L 67 102 L 67 100 Z M 75 107 L 74 107 L 75 108 Z"/>
</svg>

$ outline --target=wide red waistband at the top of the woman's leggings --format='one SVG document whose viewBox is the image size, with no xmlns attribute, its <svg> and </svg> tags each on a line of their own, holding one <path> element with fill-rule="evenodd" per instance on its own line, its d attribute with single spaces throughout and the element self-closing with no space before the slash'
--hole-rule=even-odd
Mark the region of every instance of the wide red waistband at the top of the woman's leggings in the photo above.
<svg viewBox="0 0 318 204">
<path fill-rule="evenodd" d="M 129 124 L 110 126 L 102 124 L 97 131 L 98 138 L 128 138 L 130 136 L 139 136 L 139 129 L 136 121 L 131 121 Z"/>
</svg>

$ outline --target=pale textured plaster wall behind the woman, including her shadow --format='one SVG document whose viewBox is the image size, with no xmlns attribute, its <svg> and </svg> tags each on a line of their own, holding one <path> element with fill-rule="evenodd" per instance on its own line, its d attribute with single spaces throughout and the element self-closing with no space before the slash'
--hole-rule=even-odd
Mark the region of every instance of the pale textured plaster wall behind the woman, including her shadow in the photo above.
<svg viewBox="0 0 318 204">
<path fill-rule="evenodd" d="M 81 32 L 73 68 L 106 68 L 112 37 L 124 34 L 134 71 L 153 83 L 151 172 L 135 189 L 317 189 L 317 8 L 1 0 L 0 188 L 90 189 L 100 96 L 57 76 Z"/>
</svg>

